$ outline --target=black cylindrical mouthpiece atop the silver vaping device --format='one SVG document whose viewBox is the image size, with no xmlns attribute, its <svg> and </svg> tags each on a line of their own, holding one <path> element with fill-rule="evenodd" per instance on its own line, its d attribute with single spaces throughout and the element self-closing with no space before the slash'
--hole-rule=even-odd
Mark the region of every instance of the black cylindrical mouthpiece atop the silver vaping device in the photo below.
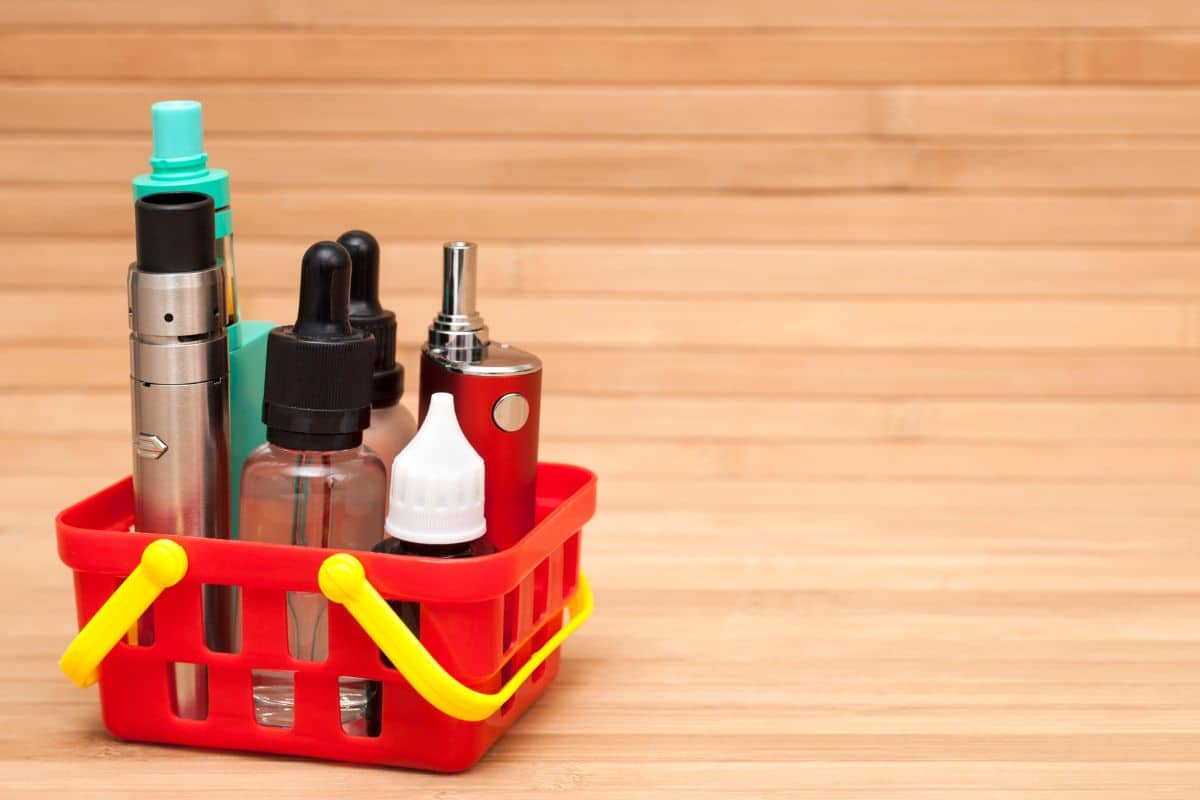
<svg viewBox="0 0 1200 800">
<path fill-rule="evenodd" d="M 212 198 L 199 192 L 158 192 L 133 204 L 138 269 L 199 272 L 217 263 Z"/>
</svg>

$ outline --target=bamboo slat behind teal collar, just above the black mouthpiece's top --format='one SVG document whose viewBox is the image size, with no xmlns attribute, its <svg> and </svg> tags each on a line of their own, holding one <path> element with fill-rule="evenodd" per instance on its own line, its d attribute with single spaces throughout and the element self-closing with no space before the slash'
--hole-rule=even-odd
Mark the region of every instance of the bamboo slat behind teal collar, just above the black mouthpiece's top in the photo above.
<svg viewBox="0 0 1200 800">
<path fill-rule="evenodd" d="M 787 192 L 1194 191 L 1200 148 L 1169 143 L 918 143 L 767 139 L 211 137 L 239 187 L 422 187 Z M 80 144 L 85 146 L 80 148 Z M 0 136 L 0 180 L 112 186 L 145 156 L 142 137 Z M 320 152 L 319 161 L 312 161 Z M 304 169 L 296 169 L 304 164 Z"/>
</svg>

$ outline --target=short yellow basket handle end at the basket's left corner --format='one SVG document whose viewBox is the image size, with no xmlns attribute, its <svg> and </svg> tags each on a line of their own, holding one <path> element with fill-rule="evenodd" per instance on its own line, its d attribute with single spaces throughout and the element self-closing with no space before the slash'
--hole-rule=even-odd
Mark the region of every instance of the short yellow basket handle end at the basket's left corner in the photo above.
<svg viewBox="0 0 1200 800">
<path fill-rule="evenodd" d="M 83 626 L 59 658 L 59 668 L 79 687 L 100 678 L 100 662 L 130 632 L 162 590 L 187 572 L 187 553 L 169 539 L 156 539 L 142 551 L 142 561 L 100 610 Z"/>
</svg>

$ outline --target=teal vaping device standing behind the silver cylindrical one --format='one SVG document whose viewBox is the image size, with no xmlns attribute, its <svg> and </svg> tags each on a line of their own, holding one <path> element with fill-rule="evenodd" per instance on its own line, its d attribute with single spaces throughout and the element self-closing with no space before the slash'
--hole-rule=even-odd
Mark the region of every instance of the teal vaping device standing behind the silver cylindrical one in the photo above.
<svg viewBox="0 0 1200 800">
<path fill-rule="evenodd" d="M 238 267 L 233 254 L 233 212 L 229 173 L 209 167 L 204 151 L 200 103 L 168 100 L 150 107 L 154 155 L 150 172 L 133 179 L 133 199 L 160 192 L 200 192 L 212 198 L 217 264 L 226 270 L 226 308 L 229 337 L 229 475 L 230 497 L 240 497 L 241 468 L 254 447 L 266 440 L 263 425 L 263 379 L 266 338 L 274 323 L 241 319 Z M 238 509 L 230 521 L 238 535 Z"/>
</svg>

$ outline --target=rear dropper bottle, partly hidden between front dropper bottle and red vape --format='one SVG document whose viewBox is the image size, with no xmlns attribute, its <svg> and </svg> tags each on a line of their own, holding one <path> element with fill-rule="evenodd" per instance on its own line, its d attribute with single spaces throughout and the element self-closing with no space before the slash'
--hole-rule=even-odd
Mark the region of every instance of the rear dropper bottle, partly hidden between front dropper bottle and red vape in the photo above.
<svg viewBox="0 0 1200 800">
<path fill-rule="evenodd" d="M 379 303 L 379 242 L 365 230 L 348 230 L 337 243 L 349 252 L 350 324 L 374 336 L 376 362 L 371 384 L 371 427 L 362 441 L 383 459 L 391 475 L 391 462 L 416 433 L 416 419 L 400 404 L 404 393 L 404 367 L 396 363 L 396 314 Z"/>
</svg>

